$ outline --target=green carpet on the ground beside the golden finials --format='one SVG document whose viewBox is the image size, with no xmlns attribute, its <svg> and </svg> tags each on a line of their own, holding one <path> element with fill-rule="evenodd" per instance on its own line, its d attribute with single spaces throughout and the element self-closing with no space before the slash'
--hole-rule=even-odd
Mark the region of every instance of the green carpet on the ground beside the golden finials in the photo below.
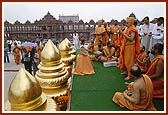
<svg viewBox="0 0 168 115">
<path fill-rule="evenodd" d="M 129 111 L 112 102 L 115 92 L 127 89 L 124 76 L 120 75 L 123 71 L 117 67 L 105 68 L 101 62 L 93 62 L 93 68 L 93 75 L 74 75 L 70 111 Z M 163 111 L 163 99 L 153 102 L 158 111 Z"/>
</svg>

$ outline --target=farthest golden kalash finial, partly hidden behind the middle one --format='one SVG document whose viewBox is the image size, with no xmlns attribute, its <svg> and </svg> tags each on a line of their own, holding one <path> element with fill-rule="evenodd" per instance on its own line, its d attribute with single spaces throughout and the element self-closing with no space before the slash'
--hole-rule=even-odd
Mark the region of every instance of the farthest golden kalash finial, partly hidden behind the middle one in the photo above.
<svg viewBox="0 0 168 115">
<path fill-rule="evenodd" d="M 59 51 L 61 54 L 61 60 L 65 64 L 65 68 L 68 69 L 68 71 L 71 73 L 72 72 L 72 65 L 73 61 L 75 61 L 75 55 L 71 54 L 72 48 L 71 48 L 71 43 L 70 41 L 65 38 L 59 45 Z"/>
</svg>

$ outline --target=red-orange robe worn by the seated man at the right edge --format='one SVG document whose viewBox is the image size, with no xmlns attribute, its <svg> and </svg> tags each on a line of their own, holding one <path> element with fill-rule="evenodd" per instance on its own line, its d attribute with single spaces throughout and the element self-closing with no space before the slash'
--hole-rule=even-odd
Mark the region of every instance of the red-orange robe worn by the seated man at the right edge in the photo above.
<svg viewBox="0 0 168 115">
<path fill-rule="evenodd" d="M 157 62 L 161 60 L 164 63 L 164 56 L 158 55 L 153 61 L 146 72 L 148 76 L 155 74 Z M 153 87 L 154 87 L 154 98 L 164 98 L 164 81 L 163 80 L 153 80 Z"/>
</svg>

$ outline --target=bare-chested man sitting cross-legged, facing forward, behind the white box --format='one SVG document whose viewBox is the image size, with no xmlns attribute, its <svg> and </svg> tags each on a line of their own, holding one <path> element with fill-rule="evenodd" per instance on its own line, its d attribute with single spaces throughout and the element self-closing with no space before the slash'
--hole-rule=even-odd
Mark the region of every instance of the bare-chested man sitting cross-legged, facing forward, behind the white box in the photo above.
<svg viewBox="0 0 168 115">
<path fill-rule="evenodd" d="M 115 53 L 115 48 L 112 46 L 112 43 L 107 42 L 107 46 L 103 47 L 104 56 L 101 56 L 101 62 L 112 62 L 116 61 L 117 57 L 113 57 Z"/>
</svg>

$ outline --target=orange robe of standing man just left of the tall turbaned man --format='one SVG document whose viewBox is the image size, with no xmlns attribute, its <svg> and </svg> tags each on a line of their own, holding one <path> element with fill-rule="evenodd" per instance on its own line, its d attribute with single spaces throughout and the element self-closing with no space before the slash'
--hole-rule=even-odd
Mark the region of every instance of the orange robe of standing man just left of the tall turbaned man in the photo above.
<svg viewBox="0 0 168 115">
<path fill-rule="evenodd" d="M 120 34 L 117 33 L 118 30 L 121 30 L 121 27 L 118 26 L 118 25 L 117 26 L 113 25 L 113 26 L 110 27 L 110 31 L 113 32 L 113 34 L 111 36 L 111 43 L 114 46 L 119 44 L 118 39 L 119 39 Z"/>
</svg>

